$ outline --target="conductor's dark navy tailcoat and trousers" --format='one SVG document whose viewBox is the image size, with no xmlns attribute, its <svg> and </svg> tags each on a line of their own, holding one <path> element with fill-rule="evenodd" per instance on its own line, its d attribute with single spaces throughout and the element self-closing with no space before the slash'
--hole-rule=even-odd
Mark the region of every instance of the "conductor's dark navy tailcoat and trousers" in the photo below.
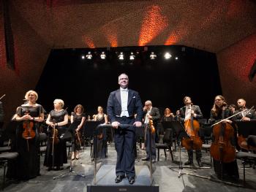
<svg viewBox="0 0 256 192">
<path fill-rule="evenodd" d="M 121 93 L 120 89 L 110 93 L 108 98 L 107 114 L 110 123 L 118 121 L 121 124 L 132 125 L 135 121 L 141 121 L 143 118 L 143 105 L 138 92 L 128 90 L 127 110 L 129 117 L 120 117 L 121 115 Z M 136 118 L 135 118 L 136 114 Z M 115 145 L 117 152 L 116 175 L 135 177 L 135 127 L 115 129 Z"/>
</svg>

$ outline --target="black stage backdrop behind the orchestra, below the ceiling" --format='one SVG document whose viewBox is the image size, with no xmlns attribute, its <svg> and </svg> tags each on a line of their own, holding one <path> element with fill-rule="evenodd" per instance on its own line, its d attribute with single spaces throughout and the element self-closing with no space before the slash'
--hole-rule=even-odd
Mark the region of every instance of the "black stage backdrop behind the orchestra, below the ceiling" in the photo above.
<svg viewBox="0 0 256 192">
<path fill-rule="evenodd" d="M 93 59 L 82 59 L 88 51 Z M 102 51 L 107 55 L 105 61 L 99 57 Z M 124 61 L 118 61 L 121 51 Z M 136 56 L 133 62 L 129 61 L 131 51 Z M 151 51 L 157 59 L 149 59 Z M 173 55 L 170 60 L 163 59 L 165 51 Z M 184 106 L 184 96 L 191 96 L 208 118 L 214 96 L 222 94 L 214 53 L 185 46 L 58 49 L 51 51 L 37 83 L 38 102 L 50 112 L 53 100 L 63 99 L 69 113 L 82 104 L 86 115 L 96 114 L 99 105 L 105 110 L 122 72 L 129 75 L 129 88 L 138 91 L 143 102 L 151 100 L 161 114 L 165 107 L 175 112 Z"/>
</svg>

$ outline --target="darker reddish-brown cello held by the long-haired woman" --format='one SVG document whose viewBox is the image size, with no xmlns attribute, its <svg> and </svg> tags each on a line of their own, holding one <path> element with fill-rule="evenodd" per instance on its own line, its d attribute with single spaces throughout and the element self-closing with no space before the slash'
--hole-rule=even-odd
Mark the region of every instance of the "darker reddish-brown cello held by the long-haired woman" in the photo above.
<svg viewBox="0 0 256 192">
<path fill-rule="evenodd" d="M 224 119 L 226 105 L 222 105 L 222 119 Z M 211 156 L 215 161 L 230 163 L 236 159 L 236 148 L 230 140 L 234 135 L 233 126 L 230 123 L 215 124 L 213 127 L 214 142 L 210 147 Z"/>
</svg>

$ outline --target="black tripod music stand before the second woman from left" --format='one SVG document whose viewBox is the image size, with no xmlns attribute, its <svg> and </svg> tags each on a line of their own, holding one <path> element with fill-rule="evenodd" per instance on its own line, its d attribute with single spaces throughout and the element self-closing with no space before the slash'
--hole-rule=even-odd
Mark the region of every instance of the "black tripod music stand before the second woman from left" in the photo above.
<svg viewBox="0 0 256 192">
<path fill-rule="evenodd" d="M 67 131 L 66 131 L 63 135 L 61 135 L 60 138 L 63 139 L 64 141 L 67 140 L 67 139 L 71 139 L 72 134 L 73 134 L 73 131 L 75 131 L 75 128 L 77 128 L 79 124 L 80 124 L 80 122 L 73 122 L 73 123 L 69 126 L 69 128 L 67 128 Z M 53 177 L 53 180 L 56 180 L 57 178 L 62 177 L 62 176 L 64 176 L 65 174 L 70 174 L 70 173 L 77 173 L 77 172 L 75 172 L 74 169 L 73 169 L 71 155 L 70 155 L 69 171 L 64 172 L 64 173 L 61 173 L 61 174 L 57 175 L 56 177 Z M 84 174 L 79 174 L 79 173 L 78 173 L 78 174 L 76 174 L 76 175 L 78 175 L 78 176 L 80 176 L 80 177 L 83 177 L 83 178 L 86 177 Z"/>
</svg>

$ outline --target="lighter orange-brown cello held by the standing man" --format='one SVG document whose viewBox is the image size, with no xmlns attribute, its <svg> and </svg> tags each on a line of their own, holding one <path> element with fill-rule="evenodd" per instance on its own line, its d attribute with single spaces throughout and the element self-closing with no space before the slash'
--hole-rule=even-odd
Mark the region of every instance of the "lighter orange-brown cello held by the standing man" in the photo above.
<svg viewBox="0 0 256 192">
<path fill-rule="evenodd" d="M 190 118 L 184 121 L 184 128 L 188 137 L 184 137 L 181 140 L 181 145 L 187 150 L 200 150 L 203 144 L 202 140 L 197 134 L 200 129 L 200 123 L 194 119 L 191 113 Z"/>
</svg>

